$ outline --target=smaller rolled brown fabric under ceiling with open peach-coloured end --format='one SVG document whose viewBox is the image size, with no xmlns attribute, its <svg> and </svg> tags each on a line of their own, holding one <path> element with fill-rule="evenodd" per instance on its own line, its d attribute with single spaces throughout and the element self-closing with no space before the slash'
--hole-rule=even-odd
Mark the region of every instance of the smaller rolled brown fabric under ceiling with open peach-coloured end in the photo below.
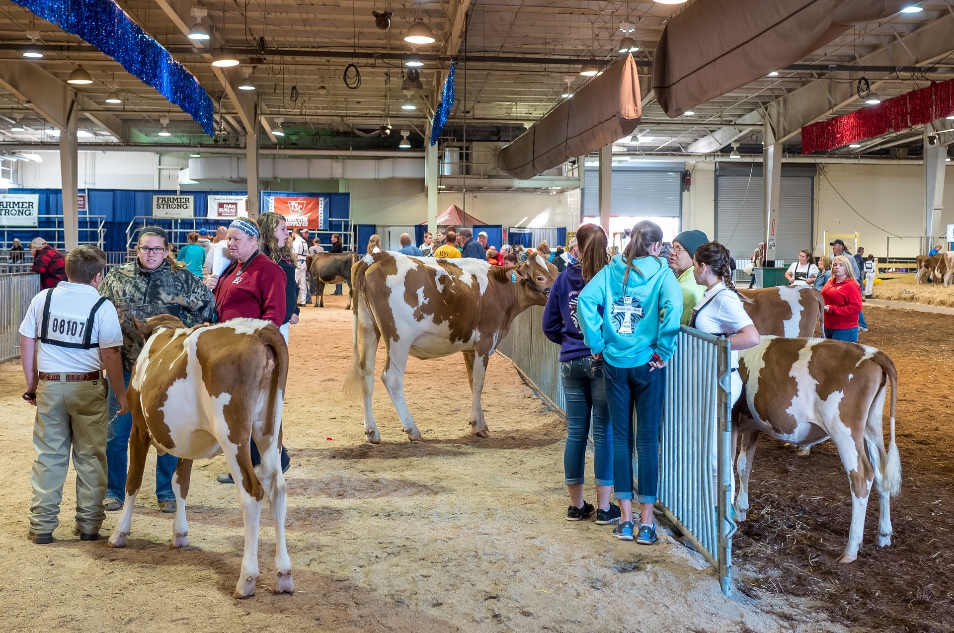
<svg viewBox="0 0 954 633">
<path fill-rule="evenodd" d="M 627 55 L 520 134 L 501 150 L 497 164 L 527 179 L 591 153 L 633 133 L 641 100 L 636 63 Z"/>
</svg>

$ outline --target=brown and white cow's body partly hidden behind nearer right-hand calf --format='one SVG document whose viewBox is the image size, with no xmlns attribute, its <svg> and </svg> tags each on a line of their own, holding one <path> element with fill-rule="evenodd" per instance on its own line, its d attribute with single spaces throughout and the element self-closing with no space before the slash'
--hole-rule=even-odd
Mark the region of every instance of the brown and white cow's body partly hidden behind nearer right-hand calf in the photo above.
<svg viewBox="0 0 954 633">
<path fill-rule="evenodd" d="M 738 291 L 745 312 L 763 337 L 814 337 L 824 315 L 821 293 L 811 286 L 778 286 Z M 823 333 L 822 333 L 823 335 Z"/>
</svg>

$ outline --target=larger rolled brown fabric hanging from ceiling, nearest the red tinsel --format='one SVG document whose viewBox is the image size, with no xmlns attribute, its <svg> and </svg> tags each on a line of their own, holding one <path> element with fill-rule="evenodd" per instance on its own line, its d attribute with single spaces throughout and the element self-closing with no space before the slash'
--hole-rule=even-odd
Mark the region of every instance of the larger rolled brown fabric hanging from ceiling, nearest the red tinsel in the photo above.
<svg viewBox="0 0 954 633">
<path fill-rule="evenodd" d="M 695 0 L 667 24 L 653 92 L 669 116 L 736 90 L 818 51 L 849 28 L 909 0 Z"/>
</svg>

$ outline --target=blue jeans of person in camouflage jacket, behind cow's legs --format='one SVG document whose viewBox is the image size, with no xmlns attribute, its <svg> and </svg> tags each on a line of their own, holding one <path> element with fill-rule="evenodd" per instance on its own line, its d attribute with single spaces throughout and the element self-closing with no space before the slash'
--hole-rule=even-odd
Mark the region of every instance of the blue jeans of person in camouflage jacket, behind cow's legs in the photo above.
<svg viewBox="0 0 954 633">
<path fill-rule="evenodd" d="M 129 372 L 122 373 L 123 384 L 129 387 Z M 116 415 L 119 405 L 113 385 L 110 385 L 106 406 L 110 419 Z M 133 414 L 127 413 L 110 422 L 106 434 L 106 497 L 126 499 L 126 468 L 129 463 L 129 434 L 133 430 Z M 156 457 L 156 499 L 168 501 L 176 499 L 173 494 L 173 473 L 176 472 L 178 458 L 166 453 Z"/>
</svg>

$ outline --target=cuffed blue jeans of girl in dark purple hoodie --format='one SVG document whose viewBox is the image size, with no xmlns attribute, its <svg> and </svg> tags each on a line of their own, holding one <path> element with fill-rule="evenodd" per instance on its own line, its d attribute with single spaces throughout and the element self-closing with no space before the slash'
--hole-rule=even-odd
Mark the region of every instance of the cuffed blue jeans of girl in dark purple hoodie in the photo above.
<svg viewBox="0 0 954 633">
<path fill-rule="evenodd" d="M 563 472 L 567 485 L 583 483 L 590 414 L 593 429 L 593 476 L 598 486 L 612 485 L 612 428 L 607 409 L 603 361 L 593 357 L 560 363 L 560 380 L 567 407 L 567 446 Z"/>
</svg>

